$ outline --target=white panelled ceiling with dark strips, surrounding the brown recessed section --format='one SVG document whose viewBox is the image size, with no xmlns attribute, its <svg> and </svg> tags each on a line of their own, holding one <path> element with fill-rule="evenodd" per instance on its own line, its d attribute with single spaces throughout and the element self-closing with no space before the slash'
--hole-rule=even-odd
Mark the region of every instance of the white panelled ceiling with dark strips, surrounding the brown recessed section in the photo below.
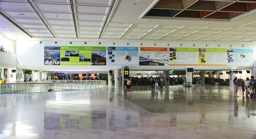
<svg viewBox="0 0 256 139">
<path fill-rule="evenodd" d="M 256 41 L 256 22 L 240 27 L 108 22 L 115 2 L 116 0 L 0 0 L 0 12 L 30 36 L 37 38 Z"/>
</svg>

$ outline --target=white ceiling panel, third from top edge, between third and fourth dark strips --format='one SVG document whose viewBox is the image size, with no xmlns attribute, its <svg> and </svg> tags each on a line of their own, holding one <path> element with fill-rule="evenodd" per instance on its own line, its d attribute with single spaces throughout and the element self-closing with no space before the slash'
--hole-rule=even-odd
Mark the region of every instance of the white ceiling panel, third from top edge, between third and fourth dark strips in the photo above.
<svg viewBox="0 0 256 139">
<path fill-rule="evenodd" d="M 77 21 L 100 21 L 104 22 L 105 15 L 89 15 L 89 14 L 76 14 Z"/>
</svg>

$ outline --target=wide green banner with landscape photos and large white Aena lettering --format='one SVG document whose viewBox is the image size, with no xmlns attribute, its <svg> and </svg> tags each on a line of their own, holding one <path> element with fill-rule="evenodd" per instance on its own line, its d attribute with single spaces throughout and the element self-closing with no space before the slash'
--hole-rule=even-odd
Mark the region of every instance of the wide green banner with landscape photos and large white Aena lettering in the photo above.
<svg viewBox="0 0 256 139">
<path fill-rule="evenodd" d="M 44 46 L 44 65 L 106 65 L 106 47 Z"/>
</svg>

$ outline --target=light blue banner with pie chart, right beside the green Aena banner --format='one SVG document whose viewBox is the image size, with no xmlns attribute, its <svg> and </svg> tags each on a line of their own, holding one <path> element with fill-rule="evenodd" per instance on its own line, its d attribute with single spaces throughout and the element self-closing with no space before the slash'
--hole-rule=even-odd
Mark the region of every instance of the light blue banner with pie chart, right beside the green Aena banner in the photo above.
<svg viewBox="0 0 256 139">
<path fill-rule="evenodd" d="M 108 65 L 138 66 L 139 47 L 108 47 Z"/>
</svg>

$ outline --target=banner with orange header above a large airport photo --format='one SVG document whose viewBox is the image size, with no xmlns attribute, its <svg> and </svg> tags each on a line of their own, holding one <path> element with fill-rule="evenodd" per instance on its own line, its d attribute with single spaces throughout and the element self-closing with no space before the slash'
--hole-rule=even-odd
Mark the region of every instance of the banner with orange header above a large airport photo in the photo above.
<svg viewBox="0 0 256 139">
<path fill-rule="evenodd" d="M 169 66 L 167 48 L 140 47 L 140 66 Z"/>
</svg>

